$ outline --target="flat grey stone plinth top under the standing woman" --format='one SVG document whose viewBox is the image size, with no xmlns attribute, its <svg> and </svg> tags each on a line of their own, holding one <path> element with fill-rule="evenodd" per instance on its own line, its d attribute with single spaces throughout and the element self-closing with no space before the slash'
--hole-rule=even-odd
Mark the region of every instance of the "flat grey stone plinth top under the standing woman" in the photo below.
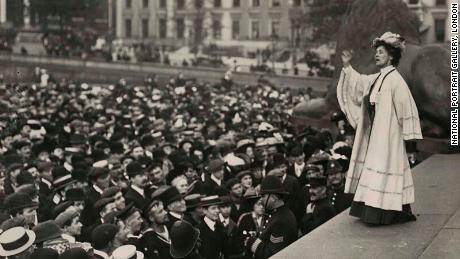
<svg viewBox="0 0 460 259">
<path fill-rule="evenodd" d="M 460 154 L 433 155 L 413 177 L 417 221 L 368 226 L 346 210 L 271 258 L 460 258 Z"/>
</svg>

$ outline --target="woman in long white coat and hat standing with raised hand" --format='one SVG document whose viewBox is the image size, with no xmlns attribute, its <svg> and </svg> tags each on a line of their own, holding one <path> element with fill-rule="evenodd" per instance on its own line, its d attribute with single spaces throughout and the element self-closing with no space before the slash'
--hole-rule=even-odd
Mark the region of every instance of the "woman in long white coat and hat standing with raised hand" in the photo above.
<svg viewBox="0 0 460 259">
<path fill-rule="evenodd" d="M 356 129 L 345 192 L 354 193 L 350 215 L 370 224 L 416 220 L 414 185 L 405 141 L 422 139 L 417 106 L 396 66 L 404 39 L 386 32 L 372 44 L 380 72 L 362 75 L 342 54 L 337 86 L 340 108 Z"/>
</svg>

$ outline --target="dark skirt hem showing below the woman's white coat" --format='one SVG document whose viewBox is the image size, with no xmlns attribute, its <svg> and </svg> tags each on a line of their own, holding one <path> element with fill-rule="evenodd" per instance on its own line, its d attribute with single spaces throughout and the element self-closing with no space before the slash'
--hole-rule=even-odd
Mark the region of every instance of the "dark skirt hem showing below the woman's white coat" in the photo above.
<svg viewBox="0 0 460 259">
<path fill-rule="evenodd" d="M 364 223 L 374 225 L 389 225 L 415 221 L 417 218 L 412 214 L 410 204 L 405 204 L 402 211 L 384 210 L 367 206 L 364 202 L 353 201 L 350 207 L 350 215 L 360 218 Z"/>
</svg>

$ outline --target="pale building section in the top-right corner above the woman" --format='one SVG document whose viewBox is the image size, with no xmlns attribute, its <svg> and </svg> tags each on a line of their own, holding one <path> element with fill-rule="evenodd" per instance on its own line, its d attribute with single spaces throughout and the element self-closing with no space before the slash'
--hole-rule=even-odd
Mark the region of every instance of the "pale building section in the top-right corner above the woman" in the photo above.
<svg viewBox="0 0 460 259">
<path fill-rule="evenodd" d="M 452 0 L 404 0 L 404 2 L 422 22 L 420 27 L 422 43 L 450 41 L 449 6 Z"/>
</svg>

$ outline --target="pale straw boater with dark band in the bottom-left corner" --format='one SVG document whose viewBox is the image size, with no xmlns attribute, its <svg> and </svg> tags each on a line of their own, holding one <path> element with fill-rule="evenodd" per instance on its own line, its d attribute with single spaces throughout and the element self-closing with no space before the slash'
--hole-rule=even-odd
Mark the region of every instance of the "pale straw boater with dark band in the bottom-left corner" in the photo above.
<svg viewBox="0 0 460 259">
<path fill-rule="evenodd" d="M 24 252 L 35 241 L 35 233 L 23 227 L 14 227 L 0 235 L 0 256 L 13 256 Z"/>
</svg>

